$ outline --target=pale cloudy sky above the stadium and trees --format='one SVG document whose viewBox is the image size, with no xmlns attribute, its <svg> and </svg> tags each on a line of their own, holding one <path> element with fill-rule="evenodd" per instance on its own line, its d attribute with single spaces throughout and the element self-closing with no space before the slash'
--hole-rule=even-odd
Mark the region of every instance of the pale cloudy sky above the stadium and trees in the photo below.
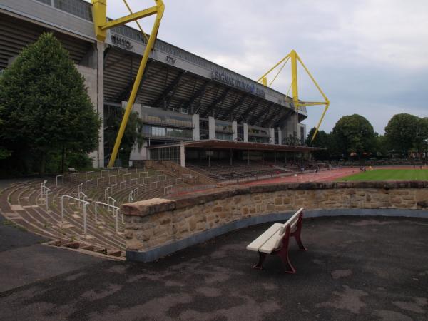
<svg viewBox="0 0 428 321">
<path fill-rule="evenodd" d="M 153 1 L 128 0 L 133 11 Z M 395 113 L 428 116 L 428 0 L 164 0 L 159 38 L 257 79 L 295 49 L 330 99 L 321 129 L 360 113 L 384 133 Z M 108 0 L 108 16 L 128 14 Z M 152 21 L 143 29 L 149 32 Z M 299 96 L 320 99 L 302 68 Z M 287 93 L 290 69 L 272 87 Z M 322 107 L 309 107 L 315 126 Z"/>
</svg>

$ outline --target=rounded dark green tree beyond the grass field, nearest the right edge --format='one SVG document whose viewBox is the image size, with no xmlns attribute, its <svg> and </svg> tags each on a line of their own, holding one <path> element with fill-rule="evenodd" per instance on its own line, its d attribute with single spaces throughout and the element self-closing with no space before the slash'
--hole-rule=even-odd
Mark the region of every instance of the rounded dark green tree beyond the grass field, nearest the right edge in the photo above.
<svg viewBox="0 0 428 321">
<path fill-rule="evenodd" d="M 399 113 L 389 120 L 385 127 L 385 137 L 392 149 L 407 155 L 409 149 L 417 144 L 420 131 L 420 118 L 408 113 Z"/>
</svg>

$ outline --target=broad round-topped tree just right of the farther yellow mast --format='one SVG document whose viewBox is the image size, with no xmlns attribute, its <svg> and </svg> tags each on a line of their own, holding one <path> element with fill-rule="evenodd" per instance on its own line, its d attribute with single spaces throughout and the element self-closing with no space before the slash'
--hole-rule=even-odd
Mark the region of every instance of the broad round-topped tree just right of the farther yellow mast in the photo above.
<svg viewBox="0 0 428 321">
<path fill-rule="evenodd" d="M 357 114 L 340 118 L 332 135 L 344 156 L 350 156 L 351 153 L 362 156 L 362 153 L 371 153 L 374 148 L 373 126 L 366 118 Z"/>
</svg>

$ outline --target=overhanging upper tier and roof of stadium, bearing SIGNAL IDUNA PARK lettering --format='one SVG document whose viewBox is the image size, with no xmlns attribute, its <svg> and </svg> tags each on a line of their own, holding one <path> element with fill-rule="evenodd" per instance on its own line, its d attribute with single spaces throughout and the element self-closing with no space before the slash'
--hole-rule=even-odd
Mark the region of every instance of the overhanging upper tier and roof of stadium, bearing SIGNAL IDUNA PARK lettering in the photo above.
<svg viewBox="0 0 428 321">
<path fill-rule="evenodd" d="M 5 0 L 0 4 L 0 25 L 10 39 L 0 48 L 0 68 L 43 31 L 55 31 L 77 64 L 84 65 L 95 41 L 91 4 L 85 1 Z M 107 103 L 128 99 L 145 41 L 140 31 L 129 26 L 108 31 L 103 77 Z M 156 41 L 136 102 L 262 127 L 280 126 L 295 112 L 283 93 L 161 39 Z M 306 117 L 306 109 L 301 108 L 300 120 Z"/>
</svg>

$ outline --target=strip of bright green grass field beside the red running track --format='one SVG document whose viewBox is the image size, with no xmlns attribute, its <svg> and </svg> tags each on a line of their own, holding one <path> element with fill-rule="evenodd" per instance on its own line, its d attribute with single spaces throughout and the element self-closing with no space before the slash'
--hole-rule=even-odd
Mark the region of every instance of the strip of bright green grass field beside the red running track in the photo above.
<svg viewBox="0 0 428 321">
<path fill-rule="evenodd" d="M 339 179 L 347 180 L 428 180 L 426 169 L 379 169 L 367 170 Z"/>
</svg>

